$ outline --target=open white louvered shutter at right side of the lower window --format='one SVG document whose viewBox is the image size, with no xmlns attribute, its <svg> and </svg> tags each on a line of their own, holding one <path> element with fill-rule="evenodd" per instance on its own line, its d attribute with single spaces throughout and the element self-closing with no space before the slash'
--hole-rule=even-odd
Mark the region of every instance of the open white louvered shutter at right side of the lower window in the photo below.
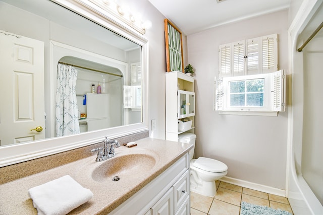
<svg viewBox="0 0 323 215">
<path fill-rule="evenodd" d="M 286 86 L 286 78 L 284 70 L 276 71 L 272 74 L 272 82 L 273 82 L 273 111 L 285 111 L 285 86 Z"/>
</svg>

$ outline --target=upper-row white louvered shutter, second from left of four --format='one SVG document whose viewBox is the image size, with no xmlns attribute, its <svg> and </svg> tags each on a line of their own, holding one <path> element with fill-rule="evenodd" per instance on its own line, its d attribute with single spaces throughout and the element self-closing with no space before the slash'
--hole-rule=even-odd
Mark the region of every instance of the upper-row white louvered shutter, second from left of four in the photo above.
<svg viewBox="0 0 323 215">
<path fill-rule="evenodd" d="M 233 76 L 244 75 L 245 41 L 233 43 Z"/>
</svg>

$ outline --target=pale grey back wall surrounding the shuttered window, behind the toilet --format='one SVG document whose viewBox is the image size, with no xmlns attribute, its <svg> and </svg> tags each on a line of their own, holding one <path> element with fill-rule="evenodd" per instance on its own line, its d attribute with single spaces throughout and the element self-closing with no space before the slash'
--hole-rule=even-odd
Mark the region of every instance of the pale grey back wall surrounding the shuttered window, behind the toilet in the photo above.
<svg viewBox="0 0 323 215">
<path fill-rule="evenodd" d="M 287 112 L 278 117 L 219 115 L 213 111 L 219 45 L 277 33 L 279 69 L 288 68 L 286 10 L 187 36 L 188 62 L 196 68 L 195 156 L 218 159 L 228 175 L 285 189 Z"/>
</svg>

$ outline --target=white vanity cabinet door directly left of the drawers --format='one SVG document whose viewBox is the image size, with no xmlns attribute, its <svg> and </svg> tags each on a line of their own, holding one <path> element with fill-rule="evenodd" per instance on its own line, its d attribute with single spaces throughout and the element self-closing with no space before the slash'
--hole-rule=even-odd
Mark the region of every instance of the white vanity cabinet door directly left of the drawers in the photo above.
<svg viewBox="0 0 323 215">
<path fill-rule="evenodd" d="M 152 215 L 174 214 L 173 187 L 169 189 L 152 207 Z"/>
</svg>

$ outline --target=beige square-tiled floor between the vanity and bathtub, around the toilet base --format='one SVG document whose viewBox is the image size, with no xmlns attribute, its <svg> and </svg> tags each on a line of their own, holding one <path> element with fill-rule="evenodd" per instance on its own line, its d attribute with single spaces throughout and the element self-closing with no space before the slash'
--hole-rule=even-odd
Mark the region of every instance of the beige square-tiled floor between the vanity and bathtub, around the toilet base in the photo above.
<svg viewBox="0 0 323 215">
<path fill-rule="evenodd" d="M 285 197 L 259 192 L 226 182 L 216 181 L 216 185 L 217 195 L 214 197 L 206 197 L 191 192 L 192 215 L 239 215 L 242 201 L 275 209 L 280 208 L 293 213 L 289 202 Z"/>
</svg>

